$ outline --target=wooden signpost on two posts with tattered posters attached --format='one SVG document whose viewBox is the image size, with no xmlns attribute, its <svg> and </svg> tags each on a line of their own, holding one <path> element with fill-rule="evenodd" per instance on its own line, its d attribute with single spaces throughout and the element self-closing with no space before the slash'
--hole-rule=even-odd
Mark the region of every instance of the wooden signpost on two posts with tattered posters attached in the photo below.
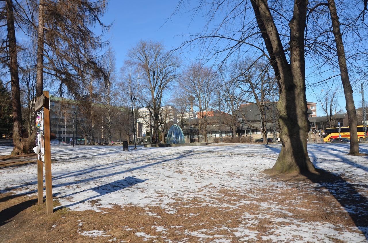
<svg viewBox="0 0 368 243">
<path fill-rule="evenodd" d="M 52 181 L 51 181 L 51 149 L 50 149 L 50 107 L 49 91 L 37 98 L 36 111 L 36 147 L 37 156 L 37 197 L 38 204 L 43 203 L 43 162 L 45 162 L 46 212 L 53 213 Z"/>
</svg>

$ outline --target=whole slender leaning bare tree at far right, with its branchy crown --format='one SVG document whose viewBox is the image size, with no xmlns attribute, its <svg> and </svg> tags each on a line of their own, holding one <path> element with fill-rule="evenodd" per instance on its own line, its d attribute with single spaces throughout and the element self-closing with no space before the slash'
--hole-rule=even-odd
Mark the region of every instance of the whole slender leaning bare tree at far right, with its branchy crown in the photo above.
<svg viewBox="0 0 368 243">
<path fill-rule="evenodd" d="M 351 131 L 350 154 L 358 155 L 357 118 L 352 85 L 356 82 L 354 80 L 367 76 L 368 66 L 364 61 L 368 49 L 368 25 L 364 23 L 366 6 L 362 1 L 339 1 L 336 6 L 334 0 L 313 2 L 310 5 L 308 21 L 311 24 L 308 24 L 305 35 L 307 54 L 315 62 L 315 65 L 311 65 L 315 67 L 311 73 L 322 77 L 317 84 L 341 80 Z M 344 46 L 344 42 L 348 44 Z M 336 69 L 340 70 L 337 74 Z M 350 79 L 349 76 L 353 78 Z"/>
</svg>

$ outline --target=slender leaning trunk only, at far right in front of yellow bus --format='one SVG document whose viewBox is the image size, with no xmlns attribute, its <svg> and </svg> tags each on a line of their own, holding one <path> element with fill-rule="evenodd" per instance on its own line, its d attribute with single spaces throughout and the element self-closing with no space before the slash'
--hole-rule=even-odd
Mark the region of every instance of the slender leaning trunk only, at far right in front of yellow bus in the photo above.
<svg viewBox="0 0 368 243">
<path fill-rule="evenodd" d="M 350 155 L 359 154 L 359 143 L 357 134 L 357 113 L 355 112 L 353 89 L 351 88 L 349 75 L 347 72 L 346 58 L 343 39 L 340 31 L 339 17 L 337 16 L 335 0 L 328 0 L 328 7 L 330 9 L 332 32 L 335 35 L 335 43 L 337 50 L 337 57 L 339 59 L 339 67 L 341 73 L 341 81 L 344 87 L 346 111 L 350 127 Z"/>
</svg>

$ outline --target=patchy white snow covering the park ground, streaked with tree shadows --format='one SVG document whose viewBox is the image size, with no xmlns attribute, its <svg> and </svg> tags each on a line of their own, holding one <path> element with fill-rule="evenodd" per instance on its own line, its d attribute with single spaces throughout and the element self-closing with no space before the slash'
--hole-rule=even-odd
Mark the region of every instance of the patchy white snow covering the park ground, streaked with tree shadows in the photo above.
<svg viewBox="0 0 368 243">
<path fill-rule="evenodd" d="M 0 147 L 0 155 L 7 155 L 11 147 Z M 368 211 L 368 160 L 367 156 L 348 155 L 348 144 L 308 144 L 309 157 L 316 167 L 344 178 L 341 181 L 321 184 L 284 182 L 263 174 L 271 168 L 280 152 L 280 144 L 220 144 L 197 147 L 130 148 L 123 152 L 120 146 L 75 146 L 52 144 L 53 195 L 64 207 L 72 210 L 103 211 L 114 205 L 139 207 L 158 206 L 167 214 L 175 214 L 175 202 L 200 199 L 207 206 L 242 207 L 258 200 L 262 212 L 245 212 L 243 224 L 231 228 L 241 240 L 273 240 L 280 242 L 368 242 L 367 225 L 355 223 L 347 228 L 339 222 L 305 222 L 299 220 L 291 208 L 280 206 L 272 200 L 259 201 L 261 192 L 283 193 L 298 190 L 315 193 L 329 192 L 342 197 L 341 188 L 353 190 L 363 199 L 359 203 L 341 200 L 339 206 L 349 214 Z M 360 144 L 361 153 L 368 153 L 368 144 Z M 227 188 L 250 198 L 236 204 L 216 200 L 222 197 L 221 189 Z M 339 189 L 340 188 L 340 189 Z M 0 193 L 14 192 L 34 195 L 37 193 L 37 168 L 35 164 L 0 169 Z M 263 194 L 263 197 L 265 194 Z M 99 200 L 99 203 L 91 203 Z M 288 202 L 294 203 L 294 202 Z M 312 202 L 318 204 L 318 200 Z M 294 208 L 293 210 L 307 210 Z M 273 216 L 270 216 L 273 212 Z M 275 216 L 277 213 L 277 217 Z M 311 212 L 311 214 L 314 212 Z M 270 229 L 261 238 L 256 235 L 257 219 L 285 222 Z M 252 224 L 250 229 L 249 225 Z M 153 227 L 153 226 L 152 226 Z M 156 227 L 156 226 L 155 226 Z M 167 225 L 170 227 L 170 225 Z M 178 227 L 178 226 L 172 226 Z M 157 231 L 164 228 L 158 228 Z M 189 232 L 206 237 L 206 230 Z M 83 232 L 85 235 L 104 235 L 104 232 Z M 144 232 L 137 234 L 150 239 Z M 212 236 L 211 236 L 212 237 Z M 170 241 L 168 241 L 170 242 Z M 185 241 L 183 241 L 185 242 Z M 223 236 L 213 242 L 230 242 Z M 288 241 L 289 242 L 289 241 Z"/>
</svg>

